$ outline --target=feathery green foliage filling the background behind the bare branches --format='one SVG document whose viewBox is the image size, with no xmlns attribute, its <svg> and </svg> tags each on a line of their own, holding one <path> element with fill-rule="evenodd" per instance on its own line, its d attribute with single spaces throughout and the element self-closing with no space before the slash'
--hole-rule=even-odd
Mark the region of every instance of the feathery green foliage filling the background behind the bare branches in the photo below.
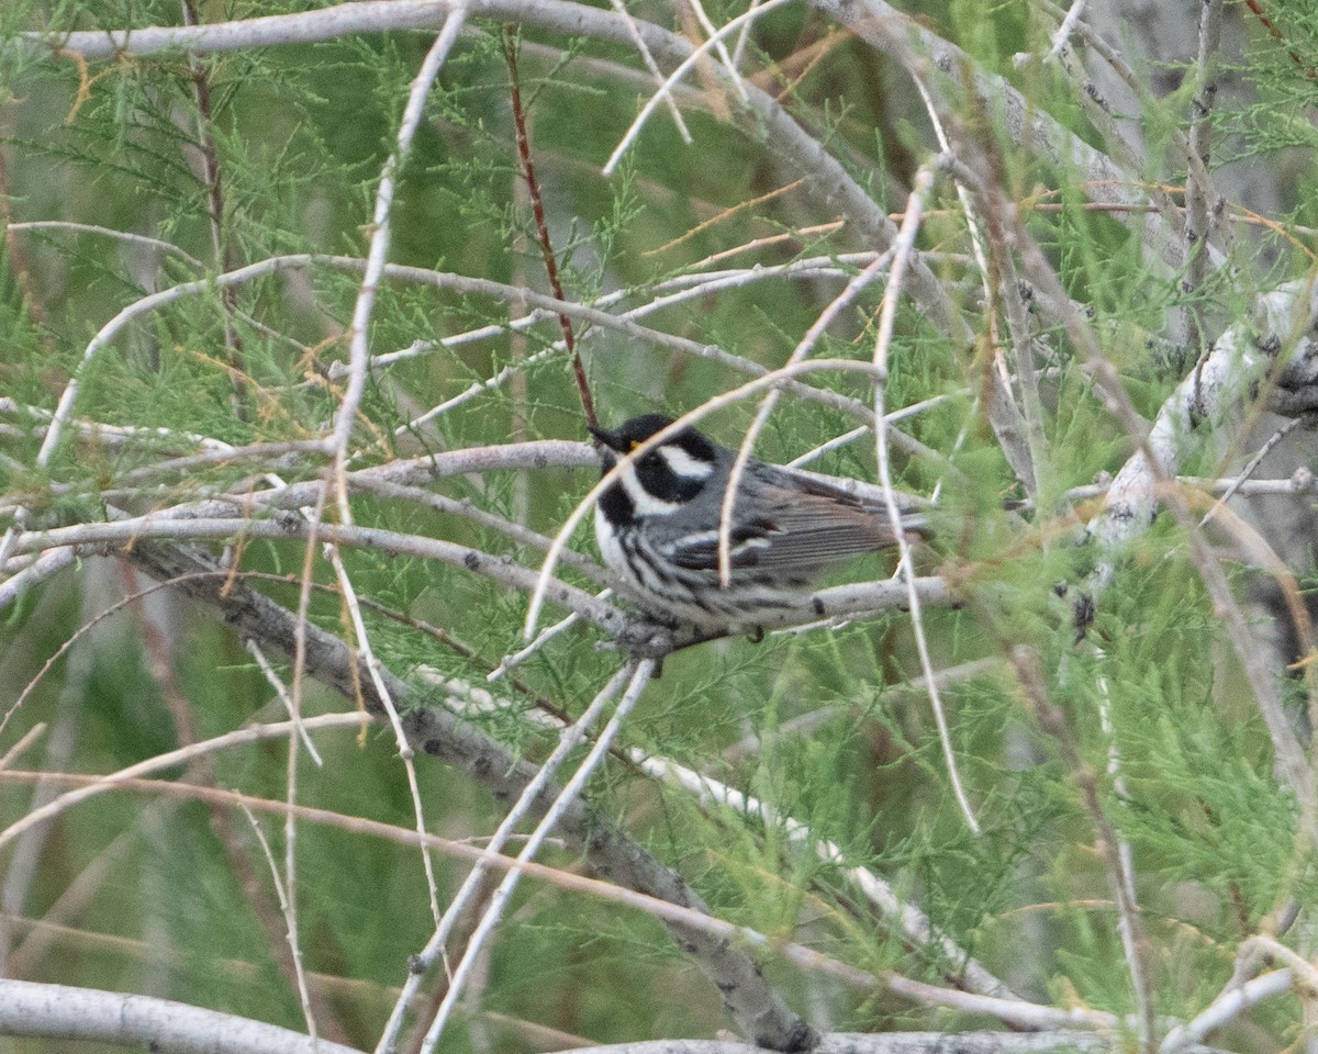
<svg viewBox="0 0 1318 1054">
<path fill-rule="evenodd" d="M 207 21 L 304 7 L 202 5 Z M 1288 224 L 1311 224 L 1318 208 L 1307 165 L 1315 82 L 1297 76 L 1288 54 L 1313 62 L 1318 21 L 1293 0 L 1275 7 L 1271 17 L 1285 42 L 1257 34 L 1235 70 L 1256 101 L 1217 119 L 1231 134 L 1228 153 L 1302 158 L 1285 183 L 1293 199 L 1282 212 Z M 712 16 L 725 18 L 743 8 L 709 5 Z M 1104 142 L 1072 80 L 1053 67 L 1012 62 L 1019 51 L 1049 46 L 1029 11 L 981 0 L 925 8 L 921 17 L 979 69 L 1007 78 L 1079 140 Z M 25 30 L 177 18 L 177 4 L 163 0 L 11 0 L 0 5 L 0 40 L 13 43 Z M 746 67 L 764 71 L 757 86 L 780 95 L 791 117 L 882 208 L 899 211 L 908 180 L 932 153 L 928 117 L 886 58 L 854 40 L 834 41 L 829 32 L 805 5 L 776 11 L 747 43 Z M 542 291 L 548 282 L 513 134 L 502 36 L 497 25 L 469 28 L 427 97 L 426 120 L 398 173 L 389 260 Z M 228 516 L 298 522 L 311 502 L 272 511 L 257 507 L 253 495 L 272 486 L 273 474 L 285 484 L 326 480 L 330 457 L 285 448 L 227 458 L 215 453 L 216 444 L 295 444 L 328 433 L 348 386 L 341 368 L 361 273 L 316 258 L 272 265 L 237 285 L 216 279 L 275 257 L 365 256 L 380 174 L 431 38 L 360 34 L 207 55 L 195 66 L 181 54 L 83 65 L 41 58 L 40 47 L 0 47 L 8 216 L 84 225 L 12 231 L 0 260 L 0 394 L 14 404 L 0 414 L 4 526 L 26 532 L 96 526 L 212 499 L 229 503 Z M 844 258 L 857 245 L 850 228 L 832 227 L 837 213 L 828 188 L 797 184 L 809 173 L 796 171 L 779 144 L 764 140 L 734 95 L 713 92 L 700 96 L 700 107 L 691 99 L 684 105 L 693 145 L 683 144 L 660 109 L 605 179 L 601 163 L 635 116 L 637 100 L 652 88 L 600 63 L 641 70 L 639 61 L 626 49 L 532 26 L 519 30 L 518 46 L 530 150 L 564 296 L 593 304 L 617 291 L 608 310 L 622 315 L 675 294 L 693 275 L 745 269 L 726 287 L 673 296 L 635 320 L 758 366 L 782 365 L 845 279 L 865 266 Z M 198 78 L 208 88 L 204 108 Z M 691 83 L 700 86 L 699 70 Z M 1139 115 L 1148 171 L 1132 177 L 1162 178 L 1157 158 L 1180 130 L 1184 101 L 1172 96 Z M 982 125 L 978 146 L 1020 211 L 1021 232 L 1037 241 L 1068 295 L 1083 306 L 1136 412 L 1152 419 L 1194 360 L 1168 339 L 1166 319 L 1189 308 L 1244 319 L 1257 290 L 1239 289 L 1230 267 L 1184 289 L 1181 275 L 1147 252 L 1137 223 L 1119 209 L 1086 207 L 1093 188 L 1085 173 L 1043 150 L 1020 150 L 1000 121 L 991 112 L 967 116 L 969 125 Z M 207 182 L 207 153 L 217 161 L 219 184 Z M 1296 848 L 1297 806 L 1275 779 L 1253 688 L 1178 527 L 1160 520 L 1122 555 L 1089 643 L 1077 647 L 1070 601 L 1053 590 L 1083 581 L 1093 569 L 1091 552 L 1074 543 L 1075 516 L 1093 515 L 1094 507 L 1075 499 L 1075 489 L 1118 470 L 1136 441 L 1097 394 L 1093 364 L 1079 361 L 1072 332 L 1036 299 L 1025 310 L 1043 349 L 1036 358 L 1046 460 L 1039 493 L 1021 507 L 1025 487 L 1003 453 L 985 398 L 995 372 L 1004 369 L 995 353 L 1015 361 L 1017 349 L 1000 314 L 992 314 L 994 298 L 983 294 L 960 199 L 942 175 L 928 213 L 923 260 L 956 298 L 973 340 L 949 339 L 904 302 L 884 399 L 890 412 L 928 403 L 899 427 L 936 456 L 900 452 L 892 470 L 899 487 L 938 491 L 931 513 L 934 539 L 917 549 L 916 561 L 920 573 L 944 576 L 958 605 L 924 611 L 933 665 L 994 660 L 942 693 L 948 744 L 983 831 L 970 831 L 952 796 L 929 696 L 905 684 L 923 671 L 904 611 L 668 656 L 623 729 L 617 755 L 593 777 L 589 810 L 601 826 L 627 831 L 677 868 L 718 918 L 766 934 L 768 946 L 754 954 L 793 1005 L 816 1000 L 837 1028 L 874 1030 L 982 1022 L 913 1008 L 883 992 L 817 984 L 816 975 L 776 954 L 774 942 L 797 942 L 855 970 L 895 970 L 931 984 L 958 978 L 965 963 L 946 947 L 913 946 L 866 899 L 858 868 L 919 904 L 937 935 L 1023 995 L 1133 1014 L 1139 1000 L 1110 876 L 1095 850 L 1099 821 L 1110 821 L 1135 860 L 1157 1012 L 1190 1017 L 1230 978 L 1236 945 L 1278 905 L 1313 904 L 1318 889 L 1309 858 Z M 1282 237 L 1280 228 L 1242 248 L 1242 256 L 1247 249 L 1275 254 L 1276 273 L 1285 277 L 1307 266 L 1300 235 Z M 1288 270 L 1292 252 L 1300 265 Z M 833 273 L 804 279 L 770 273 L 816 258 Z M 171 292 L 152 310 L 105 329 L 120 311 L 165 290 Z M 820 337 L 815 356 L 869 361 L 882 296 L 882 282 L 862 291 Z M 509 324 L 526 314 L 496 295 L 385 281 L 370 350 L 418 353 L 366 378 L 351 468 L 522 439 L 583 440 L 585 422 L 571 356 L 558 344 L 559 321 Z M 689 410 L 747 379 L 717 361 L 575 325 L 606 423 L 643 410 Z M 494 336 L 469 336 L 481 327 L 493 327 Z M 443 343 L 459 335 L 468 336 Z M 505 381 L 486 383 L 505 370 Z M 80 390 L 71 424 L 38 464 L 49 424 L 38 411 L 51 411 L 75 375 Z M 809 381 L 866 404 L 873 399 L 857 373 Z M 473 387 L 472 398 L 419 420 Z M 738 441 L 757 404 L 720 411 L 706 423 L 709 433 Z M 786 398 L 755 452 L 786 462 L 854 426 L 837 408 Z M 1243 441 L 1230 439 L 1238 448 Z M 1207 451 L 1186 472 L 1223 474 L 1220 457 Z M 811 468 L 873 480 L 873 435 Z M 551 465 L 424 482 L 455 502 L 552 536 L 596 478 L 593 468 Z M 332 490 L 326 507 L 326 522 L 337 522 Z M 540 549 L 461 511 L 438 511 L 414 494 L 362 489 L 351 495 L 353 524 L 389 532 L 391 541 L 439 539 L 509 564 L 540 565 Z M 584 528 L 572 544 L 593 555 L 588 534 Z M 335 574 L 320 559 L 322 543 L 308 549 L 290 532 L 204 544 L 215 552 L 228 547 L 236 576 L 250 576 L 244 581 L 293 610 L 308 567 L 308 618 L 356 642 Z M 490 671 L 522 647 L 525 592 L 406 547 L 339 548 L 365 601 L 361 618 L 376 659 L 415 686 L 416 701 L 461 710 L 518 759 L 543 760 L 558 742 L 544 717 L 579 714 L 621 661 L 617 651 L 597 647 L 597 630 L 579 624 L 489 685 Z M 159 593 L 98 622 L 70 657 L 42 672 L 108 603 L 148 586 L 129 563 L 103 559 L 111 551 L 120 552 L 120 543 L 87 543 L 84 563 L 41 582 L 7 613 L 3 707 L 25 685 L 38 685 L 4 729 L 0 754 L 49 722 L 70 736 L 49 746 L 50 767 L 113 772 L 253 719 L 283 719 L 245 642 L 200 609 L 166 602 Z M 891 560 L 874 557 L 836 581 L 891 572 Z M 583 589 L 601 588 L 571 567 L 558 574 Z M 1243 596 L 1252 581 L 1239 569 L 1232 585 Z M 563 614 L 551 607 L 542 622 Z M 1021 655 L 1043 671 L 1046 701 L 1064 715 L 1061 734 L 1040 721 L 1019 676 Z M 290 684 L 293 663 L 272 659 Z M 303 686 L 307 714 L 351 706 L 311 680 Z M 492 705 L 482 709 L 485 692 Z M 1302 693 L 1289 684 L 1286 694 Z M 1292 701 L 1297 710 L 1304 702 Z M 415 826 L 390 730 L 372 726 L 360 740 L 336 730 L 316 742 L 326 764 L 316 768 L 299 752 L 298 801 Z M 32 748 L 14 767 L 38 767 L 46 748 Z M 704 801 L 651 781 L 629 748 L 704 773 L 763 808 Z M 268 740 L 153 775 L 277 802 L 287 793 L 289 750 L 297 747 Z M 573 755 L 581 756 L 584 748 Z M 416 769 L 435 833 L 482 839 L 506 814 L 509 802 L 478 781 L 431 759 L 418 758 Z M 1086 773 L 1097 773 L 1102 817 L 1082 792 Z M 25 913 L 40 918 L 88 868 L 104 867 L 104 877 L 75 912 L 76 930 L 25 963 L 25 976 L 150 989 L 303 1028 L 297 992 L 274 951 L 283 922 L 252 822 L 225 805 L 186 797 L 116 790 L 59 817 Z M 18 777 L 0 784 L 7 823 L 30 806 L 32 788 Z M 253 822 L 282 868 L 282 818 L 268 813 Z M 818 842 L 837 854 L 820 854 Z M 546 859 L 563 868 L 579 863 L 560 848 Z M 373 1045 L 393 1003 L 389 988 L 405 982 L 406 957 L 434 925 L 418 852 L 357 830 L 303 822 L 295 864 L 307 968 L 360 982 L 316 984 L 332 993 L 341 1038 Z M 467 864 L 436 855 L 435 870 L 444 904 Z M 490 953 L 482 1005 L 513 1024 L 464 1018 L 445 1050 L 474 1045 L 480 1029 L 489 1030 L 482 1034 L 493 1049 L 535 1047 L 534 1030 L 517 1028 L 518 1020 L 598 1042 L 726 1026 L 717 992 L 652 918 L 544 883 L 527 883 L 507 917 Z M 1297 1014 L 1272 1014 L 1263 1018 L 1272 1036 L 1298 1034 Z"/>
</svg>

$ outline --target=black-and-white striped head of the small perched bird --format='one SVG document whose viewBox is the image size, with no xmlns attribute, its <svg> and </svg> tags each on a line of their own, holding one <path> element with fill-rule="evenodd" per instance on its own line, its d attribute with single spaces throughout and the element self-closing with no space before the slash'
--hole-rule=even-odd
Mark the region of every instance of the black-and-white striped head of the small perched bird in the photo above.
<svg viewBox="0 0 1318 1054">
<path fill-rule="evenodd" d="M 592 428 L 604 444 L 604 470 L 617 464 L 614 452 L 631 453 L 662 428 L 672 424 L 663 414 L 643 414 L 618 426 L 614 431 Z M 637 515 L 667 515 L 695 498 L 705 486 L 718 461 L 718 448 L 695 428 L 683 428 L 634 465 L 634 482 L 621 481 L 609 487 L 600 507 L 613 522 Z M 638 486 L 639 485 L 639 486 Z"/>
</svg>

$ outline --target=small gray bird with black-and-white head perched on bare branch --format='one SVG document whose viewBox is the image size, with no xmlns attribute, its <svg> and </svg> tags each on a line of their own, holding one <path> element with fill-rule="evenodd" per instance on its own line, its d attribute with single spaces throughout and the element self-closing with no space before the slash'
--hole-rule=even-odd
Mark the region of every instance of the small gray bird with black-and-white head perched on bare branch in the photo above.
<svg viewBox="0 0 1318 1054">
<path fill-rule="evenodd" d="M 672 418 L 646 414 L 617 431 L 592 428 L 604 444 L 604 470 L 617 465 Z M 633 464 L 600 495 L 594 536 L 604 561 L 642 610 L 666 622 L 741 632 L 767 614 L 811 596 L 826 568 L 896 544 L 882 509 L 837 486 L 751 458 L 746 462 L 729 536 L 730 576 L 718 576 L 718 524 L 735 451 L 683 428 Z M 924 518 L 903 515 L 921 532 Z"/>
</svg>

